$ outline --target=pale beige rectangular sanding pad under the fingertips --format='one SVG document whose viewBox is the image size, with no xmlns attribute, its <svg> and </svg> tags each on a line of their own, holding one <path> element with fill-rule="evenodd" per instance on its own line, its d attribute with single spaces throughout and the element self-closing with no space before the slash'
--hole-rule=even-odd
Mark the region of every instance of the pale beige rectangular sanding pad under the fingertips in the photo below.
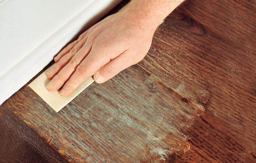
<svg viewBox="0 0 256 163">
<path fill-rule="evenodd" d="M 52 66 L 51 66 L 52 67 Z M 88 79 L 80 85 L 74 93 L 67 97 L 62 97 L 58 91 L 49 92 L 46 89 L 46 85 L 50 82 L 50 79 L 46 77 L 46 72 L 51 68 L 49 67 L 41 75 L 39 75 L 35 80 L 33 80 L 29 87 L 35 91 L 50 107 L 52 107 L 56 112 L 60 111 L 65 107 L 70 101 L 72 101 L 79 93 L 81 93 L 85 88 L 93 83 L 93 78 L 89 77 Z"/>
</svg>

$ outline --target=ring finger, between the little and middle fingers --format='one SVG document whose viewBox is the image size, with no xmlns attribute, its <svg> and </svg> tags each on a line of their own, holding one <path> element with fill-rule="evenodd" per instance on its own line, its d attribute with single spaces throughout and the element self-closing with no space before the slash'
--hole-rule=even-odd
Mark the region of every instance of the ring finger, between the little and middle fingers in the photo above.
<svg viewBox="0 0 256 163">
<path fill-rule="evenodd" d="M 63 56 L 47 73 L 46 76 L 52 79 L 58 72 L 70 62 L 75 54 L 84 46 L 87 38 L 82 39 L 65 56 Z"/>
</svg>

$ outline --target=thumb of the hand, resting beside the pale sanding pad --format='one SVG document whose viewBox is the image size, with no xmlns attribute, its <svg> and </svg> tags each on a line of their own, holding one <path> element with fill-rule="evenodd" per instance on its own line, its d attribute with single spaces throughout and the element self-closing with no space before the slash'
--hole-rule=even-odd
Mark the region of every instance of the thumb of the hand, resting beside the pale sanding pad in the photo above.
<svg viewBox="0 0 256 163">
<path fill-rule="evenodd" d="M 96 83 L 104 83 L 112 77 L 116 76 L 116 74 L 122 70 L 136 63 L 132 58 L 128 57 L 129 55 L 121 54 L 120 56 L 108 62 L 93 75 L 94 81 Z"/>
</svg>

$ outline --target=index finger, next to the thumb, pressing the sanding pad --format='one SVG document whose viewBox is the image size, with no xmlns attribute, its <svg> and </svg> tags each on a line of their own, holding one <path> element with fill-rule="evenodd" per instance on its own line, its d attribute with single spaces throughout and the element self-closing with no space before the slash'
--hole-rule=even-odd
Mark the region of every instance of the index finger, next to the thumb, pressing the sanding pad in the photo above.
<svg viewBox="0 0 256 163">
<path fill-rule="evenodd" d="M 110 61 L 110 57 L 103 57 L 97 50 L 91 50 L 88 56 L 77 66 L 76 71 L 59 91 L 61 96 L 68 96 L 74 92 L 88 77 L 95 74 L 102 66 Z"/>
</svg>

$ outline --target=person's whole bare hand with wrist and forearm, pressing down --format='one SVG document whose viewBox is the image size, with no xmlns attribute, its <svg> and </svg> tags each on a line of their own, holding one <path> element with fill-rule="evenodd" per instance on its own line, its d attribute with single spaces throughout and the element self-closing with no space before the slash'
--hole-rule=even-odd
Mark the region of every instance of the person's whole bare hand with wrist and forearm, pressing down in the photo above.
<svg viewBox="0 0 256 163">
<path fill-rule="evenodd" d="M 132 0 L 116 14 L 93 25 L 55 58 L 46 76 L 48 91 L 74 92 L 88 77 L 104 83 L 140 62 L 158 25 L 183 0 Z"/>
</svg>

